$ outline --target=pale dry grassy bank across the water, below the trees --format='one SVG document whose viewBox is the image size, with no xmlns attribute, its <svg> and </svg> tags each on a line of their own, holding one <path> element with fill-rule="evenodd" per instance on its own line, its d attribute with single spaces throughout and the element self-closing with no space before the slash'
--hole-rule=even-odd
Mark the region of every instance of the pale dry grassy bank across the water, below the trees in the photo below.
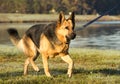
<svg viewBox="0 0 120 84">
<path fill-rule="evenodd" d="M 96 15 L 76 15 L 76 21 L 90 21 Z M 0 14 L 0 22 L 49 22 L 56 21 L 58 14 Z M 120 20 L 120 16 L 104 16 L 102 21 Z"/>
</svg>

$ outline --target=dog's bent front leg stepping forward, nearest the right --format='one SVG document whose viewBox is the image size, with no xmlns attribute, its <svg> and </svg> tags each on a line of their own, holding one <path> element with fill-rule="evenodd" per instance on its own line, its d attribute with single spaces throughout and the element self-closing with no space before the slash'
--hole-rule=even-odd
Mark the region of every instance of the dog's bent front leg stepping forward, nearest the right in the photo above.
<svg viewBox="0 0 120 84">
<path fill-rule="evenodd" d="M 73 69 L 73 60 L 71 59 L 71 57 L 69 55 L 62 56 L 61 58 L 62 58 L 62 60 L 64 60 L 66 63 L 69 64 L 67 74 L 69 77 L 71 77 L 72 76 L 72 69 Z"/>
</svg>

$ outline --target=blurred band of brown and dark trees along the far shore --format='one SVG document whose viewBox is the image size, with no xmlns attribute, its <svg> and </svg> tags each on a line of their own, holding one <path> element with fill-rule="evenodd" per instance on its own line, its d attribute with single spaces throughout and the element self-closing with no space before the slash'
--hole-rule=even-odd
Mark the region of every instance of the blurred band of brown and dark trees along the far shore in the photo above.
<svg viewBox="0 0 120 84">
<path fill-rule="evenodd" d="M 0 0 L 0 12 L 102 14 L 118 3 L 120 0 Z M 120 6 L 110 14 L 120 14 Z"/>
</svg>

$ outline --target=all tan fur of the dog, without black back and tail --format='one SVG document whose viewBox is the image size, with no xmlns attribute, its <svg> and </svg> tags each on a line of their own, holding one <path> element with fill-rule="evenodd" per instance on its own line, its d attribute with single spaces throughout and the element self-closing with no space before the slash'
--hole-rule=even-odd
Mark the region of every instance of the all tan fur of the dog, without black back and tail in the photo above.
<svg viewBox="0 0 120 84">
<path fill-rule="evenodd" d="M 73 16 L 71 16 L 73 17 Z M 71 18 L 70 17 L 70 18 Z M 72 68 L 73 68 L 73 61 L 68 53 L 69 44 L 70 42 L 67 40 L 66 36 L 70 36 L 74 30 L 73 23 L 71 19 L 65 19 L 64 14 L 60 13 L 59 20 L 57 22 L 57 27 L 55 30 L 55 34 L 60 41 L 60 43 L 55 44 L 52 43 L 48 38 L 44 35 L 44 33 L 40 36 L 40 46 L 36 47 L 34 42 L 31 40 L 30 37 L 27 35 L 24 35 L 23 38 L 17 43 L 17 47 L 19 47 L 25 55 L 28 57 L 25 60 L 24 64 L 24 75 L 27 74 L 28 71 L 28 65 L 31 63 L 33 69 L 35 71 L 39 71 L 39 68 L 34 63 L 35 59 L 37 58 L 38 54 L 37 52 L 41 53 L 42 60 L 43 60 L 43 66 L 46 76 L 50 77 L 51 74 L 49 73 L 49 66 L 48 66 L 48 58 L 49 57 L 55 57 L 57 55 L 61 56 L 62 60 L 68 63 L 68 76 L 72 76 Z M 12 39 L 12 38 L 11 38 Z M 14 41 L 15 42 L 15 41 Z M 54 46 L 54 48 L 52 47 Z"/>
</svg>

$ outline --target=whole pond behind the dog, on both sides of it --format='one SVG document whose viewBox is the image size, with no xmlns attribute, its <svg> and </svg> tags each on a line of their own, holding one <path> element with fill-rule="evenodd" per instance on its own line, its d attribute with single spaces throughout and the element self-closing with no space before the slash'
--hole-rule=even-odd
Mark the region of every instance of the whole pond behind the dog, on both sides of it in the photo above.
<svg viewBox="0 0 120 84">
<path fill-rule="evenodd" d="M 76 28 L 85 23 L 77 22 Z M 28 28 L 35 24 L 40 23 L 0 23 L 0 45 L 13 46 L 6 32 L 7 28 L 16 28 L 22 36 Z M 71 41 L 70 47 L 120 50 L 120 21 L 95 22 L 76 33 L 77 37 Z"/>
</svg>

